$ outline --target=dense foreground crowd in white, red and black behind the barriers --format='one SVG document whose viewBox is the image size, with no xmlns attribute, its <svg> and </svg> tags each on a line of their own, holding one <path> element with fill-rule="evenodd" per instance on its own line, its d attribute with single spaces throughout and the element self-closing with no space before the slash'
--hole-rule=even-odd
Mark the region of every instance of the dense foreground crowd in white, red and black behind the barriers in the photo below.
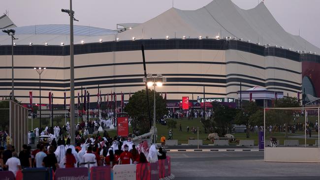
<svg viewBox="0 0 320 180">
<path fill-rule="evenodd" d="M 57 128 L 56 128 L 57 129 Z M 58 133 L 59 134 L 59 133 Z M 36 149 L 23 145 L 19 153 L 10 144 L 0 147 L 0 170 L 16 172 L 24 168 L 59 168 L 111 166 L 116 164 L 137 164 L 157 162 L 166 158 L 166 151 L 156 145 L 149 147 L 146 141 L 135 145 L 131 138 L 111 138 L 106 131 L 103 136 L 99 134 L 85 138 L 77 135 L 75 145 L 64 136 L 39 142 Z"/>
</svg>

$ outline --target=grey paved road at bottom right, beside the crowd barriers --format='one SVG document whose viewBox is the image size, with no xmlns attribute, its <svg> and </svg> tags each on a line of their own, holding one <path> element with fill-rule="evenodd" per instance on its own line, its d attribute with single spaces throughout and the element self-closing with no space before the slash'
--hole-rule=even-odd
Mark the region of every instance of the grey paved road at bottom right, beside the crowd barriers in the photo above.
<svg viewBox="0 0 320 180">
<path fill-rule="evenodd" d="M 175 180 L 320 180 L 319 163 L 264 162 L 263 151 L 168 155 Z"/>
</svg>

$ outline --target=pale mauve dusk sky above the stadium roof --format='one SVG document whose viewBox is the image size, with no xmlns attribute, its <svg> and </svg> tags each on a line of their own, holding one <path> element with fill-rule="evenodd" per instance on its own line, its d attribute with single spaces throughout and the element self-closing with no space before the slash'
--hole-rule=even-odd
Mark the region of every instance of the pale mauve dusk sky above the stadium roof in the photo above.
<svg viewBox="0 0 320 180">
<path fill-rule="evenodd" d="M 194 10 L 212 0 L 174 0 L 174 7 Z M 243 9 L 255 7 L 261 0 L 232 0 Z M 264 0 L 265 5 L 289 33 L 300 35 L 320 47 L 320 0 Z M 79 22 L 75 25 L 116 29 L 117 23 L 143 23 L 172 7 L 172 0 L 73 0 L 73 10 Z M 61 12 L 69 8 L 69 0 L 1 1 L 0 12 L 9 12 L 18 26 L 68 24 Z"/>
</svg>

